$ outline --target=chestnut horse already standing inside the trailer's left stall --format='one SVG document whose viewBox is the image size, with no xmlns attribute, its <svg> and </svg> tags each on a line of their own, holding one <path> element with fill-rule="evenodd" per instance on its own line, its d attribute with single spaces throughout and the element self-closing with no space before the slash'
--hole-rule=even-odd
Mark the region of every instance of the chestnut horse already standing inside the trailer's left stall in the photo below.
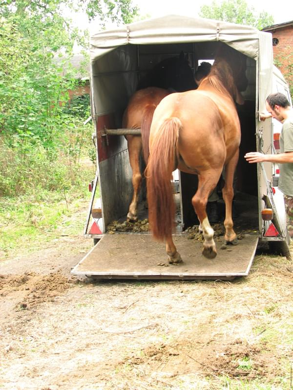
<svg viewBox="0 0 293 390">
<path fill-rule="evenodd" d="M 159 62 L 142 80 L 138 90 L 130 98 L 123 115 L 122 126 L 127 129 L 141 128 L 141 136 L 126 135 L 129 162 L 132 169 L 133 196 L 129 206 L 127 221 L 137 220 L 137 204 L 142 184 L 140 156 L 142 138 L 144 138 L 144 160 L 148 158 L 148 137 L 153 112 L 159 102 L 167 96 L 171 88 L 176 91 L 186 91 L 196 88 L 192 70 L 181 52 L 177 57 L 171 57 Z M 159 88 L 157 88 L 159 87 Z"/>
</svg>

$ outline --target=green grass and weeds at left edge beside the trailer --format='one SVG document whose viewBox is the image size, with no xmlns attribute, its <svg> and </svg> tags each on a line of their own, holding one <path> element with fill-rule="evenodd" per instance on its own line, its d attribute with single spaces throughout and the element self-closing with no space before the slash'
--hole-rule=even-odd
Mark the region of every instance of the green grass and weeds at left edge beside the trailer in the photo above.
<svg viewBox="0 0 293 390">
<path fill-rule="evenodd" d="M 80 120 L 79 122 L 82 123 Z M 61 234 L 82 234 L 95 176 L 92 126 L 69 126 L 59 145 L 14 147 L 0 139 L 0 258 Z"/>
</svg>

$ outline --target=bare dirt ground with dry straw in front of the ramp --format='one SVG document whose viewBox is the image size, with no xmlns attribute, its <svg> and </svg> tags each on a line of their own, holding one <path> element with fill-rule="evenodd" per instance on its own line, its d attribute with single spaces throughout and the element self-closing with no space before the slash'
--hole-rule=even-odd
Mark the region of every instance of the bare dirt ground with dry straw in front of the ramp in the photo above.
<svg viewBox="0 0 293 390">
<path fill-rule="evenodd" d="M 92 240 L 0 261 L 0 389 L 292 389 L 293 265 L 233 281 L 94 281 Z"/>
</svg>

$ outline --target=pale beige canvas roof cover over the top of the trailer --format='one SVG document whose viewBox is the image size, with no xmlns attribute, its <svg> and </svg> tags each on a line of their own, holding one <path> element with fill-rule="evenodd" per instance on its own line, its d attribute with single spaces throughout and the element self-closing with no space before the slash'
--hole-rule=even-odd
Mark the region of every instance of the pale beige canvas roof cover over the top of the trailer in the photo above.
<svg viewBox="0 0 293 390">
<path fill-rule="evenodd" d="M 96 68 L 93 71 L 96 60 L 119 47 L 212 41 L 224 42 L 256 61 L 257 98 L 259 111 L 263 111 L 266 97 L 272 91 L 272 35 L 250 26 L 219 20 L 168 15 L 131 23 L 112 30 L 92 32 L 90 36 L 91 76 L 93 77 L 94 72 L 97 73 Z M 124 67 L 124 70 L 131 68 L 129 56 L 128 62 L 125 58 Z"/>
</svg>

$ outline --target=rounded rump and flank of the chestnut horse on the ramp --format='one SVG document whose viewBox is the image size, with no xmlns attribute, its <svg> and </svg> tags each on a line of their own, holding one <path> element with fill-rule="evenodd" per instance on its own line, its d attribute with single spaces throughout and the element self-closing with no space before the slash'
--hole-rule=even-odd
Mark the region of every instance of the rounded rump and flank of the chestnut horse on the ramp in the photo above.
<svg viewBox="0 0 293 390">
<path fill-rule="evenodd" d="M 223 164 L 228 153 L 233 154 L 240 142 L 240 129 L 231 121 L 234 113 L 223 115 L 227 102 L 221 107 L 212 95 L 198 90 L 176 93 L 164 98 L 154 112 L 150 131 L 150 148 L 161 131 L 162 124 L 171 118 L 180 119 L 178 154 L 184 160 L 179 168 L 188 172 Z M 218 103 L 218 104 L 217 104 Z M 234 109 L 235 110 L 235 109 Z M 236 112 L 236 110 L 235 110 Z M 227 134 L 230 134 L 231 139 Z M 238 134 L 239 133 L 239 134 Z M 231 143 L 231 147 L 228 145 Z"/>
</svg>

